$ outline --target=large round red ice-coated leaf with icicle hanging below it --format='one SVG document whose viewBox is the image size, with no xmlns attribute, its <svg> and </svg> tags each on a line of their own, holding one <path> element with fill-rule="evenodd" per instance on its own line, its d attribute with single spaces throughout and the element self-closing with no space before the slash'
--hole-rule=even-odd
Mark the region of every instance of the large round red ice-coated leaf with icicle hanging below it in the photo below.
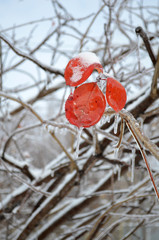
<svg viewBox="0 0 159 240">
<path fill-rule="evenodd" d="M 105 96 L 98 85 L 85 83 L 69 95 L 65 104 L 66 118 L 77 127 L 90 127 L 101 119 L 105 106 Z"/>
</svg>

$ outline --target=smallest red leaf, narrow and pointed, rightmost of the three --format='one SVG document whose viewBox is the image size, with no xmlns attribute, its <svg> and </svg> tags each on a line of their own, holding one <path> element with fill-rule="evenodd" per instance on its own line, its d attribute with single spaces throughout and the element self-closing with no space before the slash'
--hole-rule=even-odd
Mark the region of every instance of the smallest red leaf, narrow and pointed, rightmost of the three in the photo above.
<svg viewBox="0 0 159 240">
<path fill-rule="evenodd" d="M 113 78 L 107 78 L 106 99 L 116 112 L 119 112 L 126 104 L 125 88 Z"/>
</svg>

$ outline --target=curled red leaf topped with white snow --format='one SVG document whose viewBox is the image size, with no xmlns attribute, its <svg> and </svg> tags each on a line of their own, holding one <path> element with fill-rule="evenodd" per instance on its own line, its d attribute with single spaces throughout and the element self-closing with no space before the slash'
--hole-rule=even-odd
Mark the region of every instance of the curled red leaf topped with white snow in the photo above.
<svg viewBox="0 0 159 240">
<path fill-rule="evenodd" d="M 103 72 L 97 56 L 91 52 L 80 53 L 77 57 L 72 58 L 66 66 L 64 73 L 66 85 L 80 85 L 88 79 L 93 70 L 97 70 L 98 73 Z"/>
</svg>

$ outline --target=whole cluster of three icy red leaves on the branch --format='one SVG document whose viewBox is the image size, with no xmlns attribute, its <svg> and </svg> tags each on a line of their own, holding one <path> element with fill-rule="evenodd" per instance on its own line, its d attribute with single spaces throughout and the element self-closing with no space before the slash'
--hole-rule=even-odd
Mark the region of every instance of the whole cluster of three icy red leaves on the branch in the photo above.
<svg viewBox="0 0 159 240">
<path fill-rule="evenodd" d="M 113 78 L 102 79 L 107 82 L 106 98 L 96 82 L 84 83 L 93 70 L 103 73 L 99 59 L 91 52 L 83 52 L 72 58 L 65 69 L 66 84 L 76 87 L 65 103 L 66 118 L 77 127 L 88 128 L 95 125 L 105 111 L 106 101 L 116 112 L 126 103 L 125 88 Z"/>
</svg>

